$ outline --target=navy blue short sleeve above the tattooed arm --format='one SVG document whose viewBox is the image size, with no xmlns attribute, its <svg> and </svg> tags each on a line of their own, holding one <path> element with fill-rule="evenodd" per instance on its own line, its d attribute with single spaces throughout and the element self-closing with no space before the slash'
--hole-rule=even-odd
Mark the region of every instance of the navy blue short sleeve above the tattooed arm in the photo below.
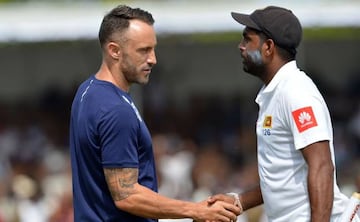
<svg viewBox="0 0 360 222">
<path fill-rule="evenodd" d="M 130 107 L 115 106 L 99 123 L 104 167 L 138 167 L 138 120 Z"/>
</svg>

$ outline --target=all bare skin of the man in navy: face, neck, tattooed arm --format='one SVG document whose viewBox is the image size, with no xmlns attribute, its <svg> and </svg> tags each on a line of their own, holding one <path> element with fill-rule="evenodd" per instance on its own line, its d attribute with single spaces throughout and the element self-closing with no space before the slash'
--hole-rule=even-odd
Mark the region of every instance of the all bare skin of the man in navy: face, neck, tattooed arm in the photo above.
<svg viewBox="0 0 360 222">
<path fill-rule="evenodd" d="M 96 78 L 128 92 L 131 84 L 146 84 L 156 64 L 153 26 L 131 20 L 123 34 L 103 47 L 103 62 Z M 105 179 L 117 208 L 144 218 L 192 218 L 196 221 L 236 220 L 240 209 L 233 204 L 207 201 L 192 203 L 164 197 L 138 183 L 137 168 L 105 168 Z"/>
</svg>

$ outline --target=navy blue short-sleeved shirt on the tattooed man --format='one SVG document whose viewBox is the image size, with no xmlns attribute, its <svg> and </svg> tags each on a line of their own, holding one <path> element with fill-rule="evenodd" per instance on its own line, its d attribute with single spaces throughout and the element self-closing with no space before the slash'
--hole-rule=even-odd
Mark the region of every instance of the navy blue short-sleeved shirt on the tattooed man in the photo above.
<svg viewBox="0 0 360 222">
<path fill-rule="evenodd" d="M 138 183 L 157 192 L 150 133 L 128 93 L 95 76 L 73 101 L 70 151 L 75 221 L 150 222 L 116 208 L 103 168 L 138 168 Z"/>
</svg>

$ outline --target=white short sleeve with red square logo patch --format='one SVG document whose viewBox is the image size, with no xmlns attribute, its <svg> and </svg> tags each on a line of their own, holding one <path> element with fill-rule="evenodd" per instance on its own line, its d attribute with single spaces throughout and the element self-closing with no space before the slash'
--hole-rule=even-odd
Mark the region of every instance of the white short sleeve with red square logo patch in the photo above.
<svg viewBox="0 0 360 222">
<path fill-rule="evenodd" d="M 320 94 L 288 93 L 284 100 L 286 124 L 296 149 L 332 138 L 330 115 Z"/>
</svg>

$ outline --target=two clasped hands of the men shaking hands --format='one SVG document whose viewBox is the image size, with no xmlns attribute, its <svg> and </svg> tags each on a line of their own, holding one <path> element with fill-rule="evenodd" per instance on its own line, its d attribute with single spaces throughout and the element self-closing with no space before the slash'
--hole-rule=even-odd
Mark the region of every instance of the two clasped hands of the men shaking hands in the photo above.
<svg viewBox="0 0 360 222">
<path fill-rule="evenodd" d="M 206 206 L 199 210 L 193 222 L 236 222 L 237 216 L 243 212 L 238 194 L 227 193 L 210 196 L 200 205 Z"/>
</svg>

